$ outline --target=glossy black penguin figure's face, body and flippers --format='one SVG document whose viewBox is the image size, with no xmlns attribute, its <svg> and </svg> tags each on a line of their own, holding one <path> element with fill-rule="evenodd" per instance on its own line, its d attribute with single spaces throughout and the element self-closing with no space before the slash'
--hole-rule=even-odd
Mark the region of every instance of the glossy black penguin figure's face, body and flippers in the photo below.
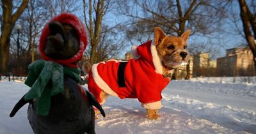
<svg viewBox="0 0 256 134">
<path fill-rule="evenodd" d="M 49 23 L 49 29 L 51 34 L 47 38 L 44 50 L 47 56 L 53 59 L 66 59 L 77 54 L 79 38 L 74 27 L 53 21 Z M 51 97 L 51 108 L 46 116 L 37 115 L 36 100 L 26 101 L 24 96 L 15 105 L 10 117 L 29 103 L 28 119 L 36 134 L 95 133 L 93 106 L 105 117 L 104 110 L 95 97 L 67 75 L 64 75 L 64 91 Z"/>
</svg>

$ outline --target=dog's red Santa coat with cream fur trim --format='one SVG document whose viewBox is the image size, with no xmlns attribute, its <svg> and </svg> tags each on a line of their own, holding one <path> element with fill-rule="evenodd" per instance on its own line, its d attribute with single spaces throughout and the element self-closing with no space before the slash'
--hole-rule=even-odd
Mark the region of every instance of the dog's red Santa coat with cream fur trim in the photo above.
<svg viewBox="0 0 256 134">
<path fill-rule="evenodd" d="M 163 66 L 157 55 L 154 41 L 147 41 L 132 50 L 137 59 L 130 59 L 124 71 L 125 86 L 118 86 L 118 66 L 120 61 L 93 64 L 89 74 L 88 89 L 100 103 L 100 93 L 119 98 L 138 98 L 147 109 L 161 108 L 161 91 L 170 82 L 163 77 Z"/>
</svg>

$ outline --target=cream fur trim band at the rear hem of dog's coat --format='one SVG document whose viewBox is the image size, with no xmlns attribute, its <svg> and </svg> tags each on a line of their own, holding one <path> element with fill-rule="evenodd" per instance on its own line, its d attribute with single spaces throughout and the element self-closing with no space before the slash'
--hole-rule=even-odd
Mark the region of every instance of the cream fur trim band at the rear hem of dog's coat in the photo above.
<svg viewBox="0 0 256 134">
<path fill-rule="evenodd" d="M 104 62 L 101 62 L 104 63 Z M 95 81 L 95 83 L 97 84 L 97 86 L 100 87 L 100 89 L 102 89 L 105 93 L 113 95 L 113 96 L 117 96 L 118 94 L 116 94 L 109 86 L 108 84 L 106 84 L 106 82 L 104 82 L 104 80 L 100 77 L 98 70 L 97 70 L 97 66 L 98 64 L 93 64 L 92 66 L 92 77 L 93 80 Z"/>
</svg>

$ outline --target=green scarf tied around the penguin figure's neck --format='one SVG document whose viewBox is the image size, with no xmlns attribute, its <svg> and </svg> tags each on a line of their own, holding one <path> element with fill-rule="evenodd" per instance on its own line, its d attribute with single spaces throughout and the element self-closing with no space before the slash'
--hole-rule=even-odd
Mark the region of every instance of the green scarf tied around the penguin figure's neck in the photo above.
<svg viewBox="0 0 256 134">
<path fill-rule="evenodd" d="M 36 114 L 48 115 L 51 107 L 51 96 L 63 92 L 64 74 L 80 82 L 79 68 L 70 68 L 52 61 L 38 60 L 29 64 L 29 74 L 25 84 L 31 89 L 25 100 L 37 101 Z"/>
</svg>

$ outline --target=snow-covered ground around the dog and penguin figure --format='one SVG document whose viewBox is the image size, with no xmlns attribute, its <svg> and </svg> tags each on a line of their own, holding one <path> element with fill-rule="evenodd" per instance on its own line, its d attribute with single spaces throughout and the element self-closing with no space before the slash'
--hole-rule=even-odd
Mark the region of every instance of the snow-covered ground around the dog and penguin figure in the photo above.
<svg viewBox="0 0 256 134">
<path fill-rule="evenodd" d="M 251 78 L 253 80 L 253 78 Z M 96 133 L 256 133 L 256 84 L 228 78 L 172 81 L 164 89 L 156 121 L 145 118 L 136 99 L 109 97 Z M 28 91 L 22 82 L 0 82 L 0 134 L 33 133 L 23 107 L 8 115 Z"/>
</svg>

